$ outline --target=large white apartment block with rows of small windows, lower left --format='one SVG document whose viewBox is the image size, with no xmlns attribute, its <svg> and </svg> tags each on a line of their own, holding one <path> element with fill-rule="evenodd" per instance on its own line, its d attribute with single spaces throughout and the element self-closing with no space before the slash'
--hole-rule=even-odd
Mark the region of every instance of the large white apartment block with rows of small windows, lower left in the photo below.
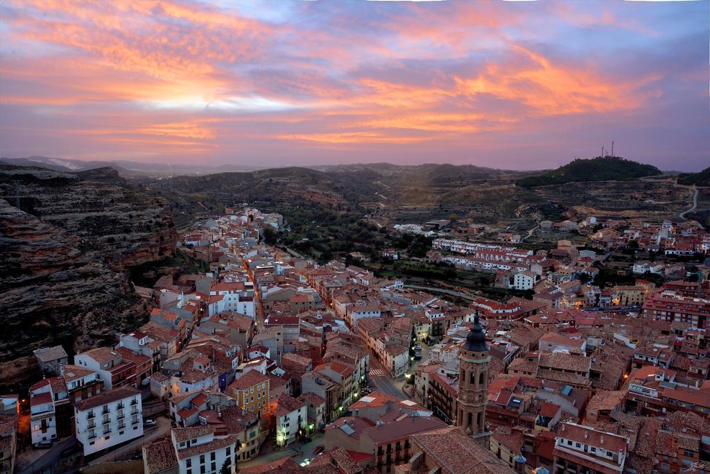
<svg viewBox="0 0 710 474">
<path fill-rule="evenodd" d="M 74 407 L 74 423 L 84 456 L 143 436 L 141 392 L 120 387 L 81 400 Z"/>
</svg>

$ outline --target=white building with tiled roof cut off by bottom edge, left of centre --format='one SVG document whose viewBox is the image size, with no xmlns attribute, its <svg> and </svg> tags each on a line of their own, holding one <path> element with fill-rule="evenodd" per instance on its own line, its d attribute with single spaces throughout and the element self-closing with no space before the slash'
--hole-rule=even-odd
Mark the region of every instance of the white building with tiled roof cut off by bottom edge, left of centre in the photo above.
<svg viewBox="0 0 710 474">
<path fill-rule="evenodd" d="M 239 437 L 216 436 L 212 426 L 173 428 L 170 433 L 180 474 L 217 474 L 226 462 L 234 473 L 234 459 L 239 450 Z"/>
</svg>

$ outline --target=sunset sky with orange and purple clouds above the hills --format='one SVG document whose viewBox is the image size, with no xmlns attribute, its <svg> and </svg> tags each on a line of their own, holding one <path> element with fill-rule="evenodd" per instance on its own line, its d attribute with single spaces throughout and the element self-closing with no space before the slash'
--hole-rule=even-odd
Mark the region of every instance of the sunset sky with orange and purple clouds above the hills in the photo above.
<svg viewBox="0 0 710 474">
<path fill-rule="evenodd" d="M 0 155 L 710 164 L 703 1 L 0 2 Z"/>
</svg>

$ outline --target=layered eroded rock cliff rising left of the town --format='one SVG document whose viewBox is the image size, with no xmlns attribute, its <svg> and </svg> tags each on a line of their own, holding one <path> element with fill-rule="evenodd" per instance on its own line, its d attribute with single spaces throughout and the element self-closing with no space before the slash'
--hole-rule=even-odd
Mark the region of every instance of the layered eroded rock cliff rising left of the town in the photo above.
<svg viewBox="0 0 710 474">
<path fill-rule="evenodd" d="M 0 168 L 1 194 L 21 197 L 0 200 L 0 360 L 113 342 L 146 317 L 127 269 L 175 252 L 177 233 L 163 200 L 110 179 Z"/>
</svg>

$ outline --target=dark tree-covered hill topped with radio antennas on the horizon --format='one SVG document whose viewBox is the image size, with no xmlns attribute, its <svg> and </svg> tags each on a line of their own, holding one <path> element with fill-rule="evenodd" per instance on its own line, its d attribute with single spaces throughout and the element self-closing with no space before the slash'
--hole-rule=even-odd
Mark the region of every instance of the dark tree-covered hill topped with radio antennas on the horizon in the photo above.
<svg viewBox="0 0 710 474">
<path fill-rule="evenodd" d="M 578 181 L 630 181 L 644 176 L 660 175 L 655 166 L 611 156 L 579 159 L 548 171 L 539 176 L 529 176 L 515 182 L 523 188 L 553 184 L 575 183 Z"/>
</svg>

